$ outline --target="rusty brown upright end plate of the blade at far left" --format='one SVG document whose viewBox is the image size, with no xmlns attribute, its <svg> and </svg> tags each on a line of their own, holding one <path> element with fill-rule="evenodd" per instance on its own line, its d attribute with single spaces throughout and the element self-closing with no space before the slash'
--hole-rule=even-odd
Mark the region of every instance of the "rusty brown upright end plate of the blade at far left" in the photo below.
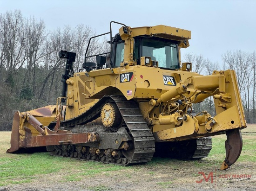
<svg viewBox="0 0 256 191">
<path fill-rule="evenodd" d="M 17 111 L 13 116 L 11 148 L 9 148 L 6 153 L 13 153 L 19 150 L 19 138 L 20 138 L 19 127 L 20 127 L 20 112 Z"/>
</svg>

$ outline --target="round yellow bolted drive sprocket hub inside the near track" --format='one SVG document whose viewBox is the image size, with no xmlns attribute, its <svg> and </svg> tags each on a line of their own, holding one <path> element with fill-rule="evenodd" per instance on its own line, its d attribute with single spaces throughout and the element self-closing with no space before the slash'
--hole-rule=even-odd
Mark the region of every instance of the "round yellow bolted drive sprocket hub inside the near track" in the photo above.
<svg viewBox="0 0 256 191">
<path fill-rule="evenodd" d="M 122 126 L 123 118 L 115 103 L 106 103 L 102 107 L 101 122 L 111 131 L 117 131 Z"/>
</svg>

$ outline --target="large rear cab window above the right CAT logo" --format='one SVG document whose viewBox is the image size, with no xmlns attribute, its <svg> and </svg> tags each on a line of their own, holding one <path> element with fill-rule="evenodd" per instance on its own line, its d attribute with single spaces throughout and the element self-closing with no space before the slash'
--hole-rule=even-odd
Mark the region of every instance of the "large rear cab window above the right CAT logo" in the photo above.
<svg viewBox="0 0 256 191">
<path fill-rule="evenodd" d="M 177 44 L 155 39 L 142 39 L 142 57 L 151 57 L 163 68 L 178 69 Z"/>
</svg>

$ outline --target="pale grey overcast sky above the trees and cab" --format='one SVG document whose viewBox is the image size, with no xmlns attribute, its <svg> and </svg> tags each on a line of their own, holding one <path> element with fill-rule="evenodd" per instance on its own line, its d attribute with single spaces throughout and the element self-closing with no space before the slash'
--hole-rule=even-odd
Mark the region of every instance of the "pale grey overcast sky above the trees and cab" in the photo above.
<svg viewBox="0 0 256 191">
<path fill-rule="evenodd" d="M 187 29 L 192 39 L 182 54 L 202 54 L 220 65 L 226 51 L 256 51 L 256 0 L 0 0 L 0 13 L 15 9 L 44 19 L 47 30 L 83 23 L 101 34 L 112 20 Z"/>
</svg>

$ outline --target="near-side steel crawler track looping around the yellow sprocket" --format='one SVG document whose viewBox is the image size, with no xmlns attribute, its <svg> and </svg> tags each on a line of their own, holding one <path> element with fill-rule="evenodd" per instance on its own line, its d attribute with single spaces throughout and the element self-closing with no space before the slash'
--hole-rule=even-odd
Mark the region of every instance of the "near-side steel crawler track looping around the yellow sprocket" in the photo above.
<svg viewBox="0 0 256 191">
<path fill-rule="evenodd" d="M 129 149 L 114 150 L 113 148 L 101 149 L 95 145 L 63 145 L 47 146 L 51 155 L 73 157 L 84 160 L 101 161 L 118 165 L 146 163 L 155 153 L 155 139 L 141 115 L 135 101 L 127 101 L 123 96 L 105 96 L 94 107 L 77 118 L 61 121 L 61 127 L 74 127 L 88 123 L 98 118 L 101 108 L 105 103 L 115 102 L 124 120 L 124 126 L 130 134 Z M 52 123 L 51 125 L 54 125 Z M 104 137 L 101 137 L 101 140 Z M 113 151 L 115 155 L 113 155 Z"/>
</svg>

